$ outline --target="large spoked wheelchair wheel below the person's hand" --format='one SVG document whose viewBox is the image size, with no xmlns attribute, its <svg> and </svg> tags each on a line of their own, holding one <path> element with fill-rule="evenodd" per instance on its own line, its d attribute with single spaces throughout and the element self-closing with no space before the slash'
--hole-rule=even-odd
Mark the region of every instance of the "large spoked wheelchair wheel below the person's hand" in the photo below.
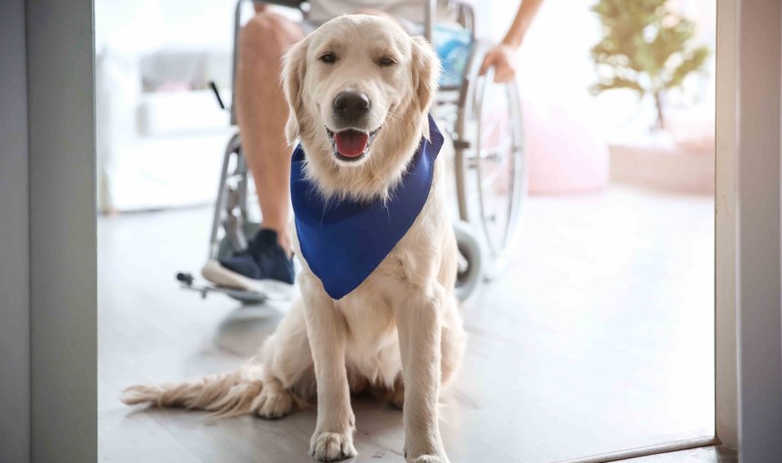
<svg viewBox="0 0 782 463">
<path fill-rule="evenodd" d="M 515 245 L 526 197 L 526 156 L 516 84 L 495 84 L 491 72 L 478 76 L 482 57 L 476 47 L 460 98 L 456 193 L 461 219 L 479 231 L 484 276 L 492 279 Z"/>
</svg>

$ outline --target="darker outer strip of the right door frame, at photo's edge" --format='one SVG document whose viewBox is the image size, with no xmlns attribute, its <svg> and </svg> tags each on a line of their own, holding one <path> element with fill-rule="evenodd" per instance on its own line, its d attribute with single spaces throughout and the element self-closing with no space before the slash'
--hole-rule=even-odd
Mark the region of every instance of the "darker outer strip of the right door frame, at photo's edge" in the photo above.
<svg viewBox="0 0 782 463">
<path fill-rule="evenodd" d="M 740 461 L 761 463 L 782 456 L 782 5 L 779 0 L 738 5 L 737 445 Z"/>
</svg>

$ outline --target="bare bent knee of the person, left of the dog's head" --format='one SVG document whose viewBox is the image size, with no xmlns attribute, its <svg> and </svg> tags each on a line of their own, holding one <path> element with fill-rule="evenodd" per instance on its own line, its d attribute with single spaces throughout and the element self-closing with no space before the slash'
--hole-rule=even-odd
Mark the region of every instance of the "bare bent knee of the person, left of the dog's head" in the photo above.
<svg viewBox="0 0 782 463">
<path fill-rule="evenodd" d="M 279 61 L 286 48 L 304 37 L 297 25 L 274 13 L 259 13 L 242 28 L 239 36 L 243 59 Z"/>
</svg>

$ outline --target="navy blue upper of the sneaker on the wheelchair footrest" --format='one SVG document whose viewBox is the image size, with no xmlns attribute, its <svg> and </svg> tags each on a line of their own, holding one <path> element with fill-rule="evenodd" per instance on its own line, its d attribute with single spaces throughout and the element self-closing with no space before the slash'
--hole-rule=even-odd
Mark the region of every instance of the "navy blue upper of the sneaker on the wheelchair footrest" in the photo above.
<svg viewBox="0 0 782 463">
<path fill-rule="evenodd" d="M 277 232 L 262 229 L 242 251 L 220 260 L 220 265 L 252 280 L 276 280 L 293 284 L 293 259 L 277 243 Z"/>
</svg>

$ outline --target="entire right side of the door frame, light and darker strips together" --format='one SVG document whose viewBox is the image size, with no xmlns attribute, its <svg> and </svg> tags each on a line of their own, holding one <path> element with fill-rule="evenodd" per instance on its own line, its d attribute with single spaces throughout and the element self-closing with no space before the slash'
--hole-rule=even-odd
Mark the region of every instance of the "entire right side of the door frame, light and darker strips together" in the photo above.
<svg viewBox="0 0 782 463">
<path fill-rule="evenodd" d="M 717 1 L 717 437 L 782 455 L 779 0 Z"/>
</svg>

